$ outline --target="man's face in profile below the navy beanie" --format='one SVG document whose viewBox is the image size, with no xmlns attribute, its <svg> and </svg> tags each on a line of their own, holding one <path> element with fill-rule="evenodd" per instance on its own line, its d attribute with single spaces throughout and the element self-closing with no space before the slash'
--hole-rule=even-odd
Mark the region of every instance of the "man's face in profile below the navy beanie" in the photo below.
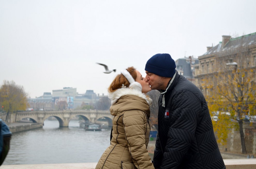
<svg viewBox="0 0 256 169">
<path fill-rule="evenodd" d="M 152 88 L 152 90 L 160 90 L 160 89 L 165 90 L 166 86 L 163 87 L 161 76 L 158 76 L 156 74 L 146 71 L 146 79 L 150 87 Z"/>
</svg>

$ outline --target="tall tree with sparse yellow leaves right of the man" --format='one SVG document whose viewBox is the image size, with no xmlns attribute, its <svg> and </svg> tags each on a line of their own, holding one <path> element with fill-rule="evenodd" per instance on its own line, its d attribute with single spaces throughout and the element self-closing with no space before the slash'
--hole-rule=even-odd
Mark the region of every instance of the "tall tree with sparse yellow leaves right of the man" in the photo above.
<svg viewBox="0 0 256 169">
<path fill-rule="evenodd" d="M 255 37 L 254 35 L 251 37 Z M 255 115 L 256 109 L 256 65 L 255 45 L 253 39 L 242 36 L 231 39 L 230 47 L 223 47 L 215 55 L 216 70 L 204 78 L 201 84 L 203 90 L 208 90 L 206 100 L 211 112 L 229 112 L 230 117 L 219 114 L 214 122 L 214 129 L 219 135 L 220 142 L 225 144 L 230 127 L 230 118 L 238 122 L 242 154 L 246 154 L 243 132 L 245 115 Z"/>
</svg>

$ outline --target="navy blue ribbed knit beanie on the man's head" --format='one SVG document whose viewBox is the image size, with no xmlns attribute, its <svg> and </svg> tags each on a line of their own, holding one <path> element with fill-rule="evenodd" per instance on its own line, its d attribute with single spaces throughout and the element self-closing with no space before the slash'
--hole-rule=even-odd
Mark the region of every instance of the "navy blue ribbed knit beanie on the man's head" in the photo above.
<svg viewBox="0 0 256 169">
<path fill-rule="evenodd" d="M 145 70 L 162 77 L 173 77 L 176 70 L 175 61 L 168 53 L 156 54 L 146 63 Z"/>
</svg>

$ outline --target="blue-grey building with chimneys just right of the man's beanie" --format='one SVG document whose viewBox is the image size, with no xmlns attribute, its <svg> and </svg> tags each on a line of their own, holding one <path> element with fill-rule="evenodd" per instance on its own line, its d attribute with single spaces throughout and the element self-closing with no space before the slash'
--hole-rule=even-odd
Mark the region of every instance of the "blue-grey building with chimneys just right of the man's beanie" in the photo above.
<svg viewBox="0 0 256 169">
<path fill-rule="evenodd" d="M 194 66 L 199 63 L 199 60 L 197 58 L 194 58 L 193 56 L 189 56 L 188 58 L 177 59 L 175 63 L 178 73 L 194 83 Z"/>
</svg>

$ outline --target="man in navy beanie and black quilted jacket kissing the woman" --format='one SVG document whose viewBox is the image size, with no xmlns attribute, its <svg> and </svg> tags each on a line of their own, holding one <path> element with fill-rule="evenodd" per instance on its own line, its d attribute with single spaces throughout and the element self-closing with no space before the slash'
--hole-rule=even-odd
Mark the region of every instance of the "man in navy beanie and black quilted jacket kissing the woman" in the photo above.
<svg viewBox="0 0 256 169">
<path fill-rule="evenodd" d="M 145 66 L 152 90 L 161 93 L 154 167 L 224 169 L 206 100 L 175 68 L 169 54 L 156 54 Z"/>
</svg>

